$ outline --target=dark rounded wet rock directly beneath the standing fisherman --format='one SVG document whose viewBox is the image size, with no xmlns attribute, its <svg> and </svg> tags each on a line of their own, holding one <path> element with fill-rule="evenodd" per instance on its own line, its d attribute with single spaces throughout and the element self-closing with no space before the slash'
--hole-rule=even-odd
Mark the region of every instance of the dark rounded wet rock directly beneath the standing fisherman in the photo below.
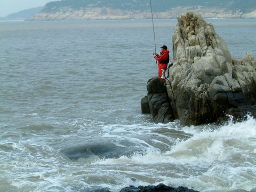
<svg viewBox="0 0 256 192">
<path fill-rule="evenodd" d="M 166 91 L 166 86 L 162 79 L 159 77 L 149 79 L 147 83 L 147 90 L 148 95 L 146 97 L 148 100 L 149 112 L 153 116 L 154 122 L 168 123 L 173 121 L 170 101 Z M 144 103 L 146 102 L 145 98 L 142 99 Z M 146 106 L 146 104 L 143 106 Z M 145 111 L 144 107 L 143 111 Z"/>
</svg>

